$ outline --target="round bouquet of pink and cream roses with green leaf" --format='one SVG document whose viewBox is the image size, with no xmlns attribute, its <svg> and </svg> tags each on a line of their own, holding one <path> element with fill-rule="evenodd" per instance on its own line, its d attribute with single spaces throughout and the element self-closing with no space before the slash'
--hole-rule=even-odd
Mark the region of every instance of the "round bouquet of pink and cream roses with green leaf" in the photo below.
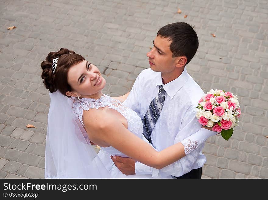
<svg viewBox="0 0 268 200">
<path fill-rule="evenodd" d="M 211 89 L 199 100 L 196 108 L 199 123 L 220 132 L 226 140 L 238 126 L 241 110 L 238 98 L 231 92 Z"/>
</svg>

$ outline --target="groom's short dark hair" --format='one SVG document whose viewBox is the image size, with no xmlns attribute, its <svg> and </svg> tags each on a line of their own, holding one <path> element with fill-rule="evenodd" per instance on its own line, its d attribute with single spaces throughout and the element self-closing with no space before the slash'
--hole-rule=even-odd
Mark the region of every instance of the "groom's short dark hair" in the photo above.
<svg viewBox="0 0 268 200">
<path fill-rule="evenodd" d="M 171 40 L 170 51 L 172 57 L 186 56 L 188 64 L 198 48 L 198 37 L 191 25 L 185 22 L 176 22 L 163 26 L 157 36 Z"/>
</svg>

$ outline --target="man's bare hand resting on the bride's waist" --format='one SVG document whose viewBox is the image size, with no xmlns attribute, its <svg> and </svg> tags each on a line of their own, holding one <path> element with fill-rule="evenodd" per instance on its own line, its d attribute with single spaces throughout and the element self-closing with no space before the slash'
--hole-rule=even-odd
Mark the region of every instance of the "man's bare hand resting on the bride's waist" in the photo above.
<svg viewBox="0 0 268 200">
<path fill-rule="evenodd" d="M 136 161 L 132 158 L 123 158 L 120 156 L 111 156 L 111 159 L 115 163 L 115 166 L 125 175 L 135 174 Z"/>
</svg>

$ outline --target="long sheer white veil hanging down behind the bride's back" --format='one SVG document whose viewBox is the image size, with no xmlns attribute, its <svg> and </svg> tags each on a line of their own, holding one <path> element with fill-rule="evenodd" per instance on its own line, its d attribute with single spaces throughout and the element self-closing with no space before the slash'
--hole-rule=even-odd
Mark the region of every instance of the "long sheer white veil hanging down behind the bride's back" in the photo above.
<svg viewBox="0 0 268 200">
<path fill-rule="evenodd" d="M 59 91 L 49 96 L 45 178 L 111 178 L 84 137 L 86 131 L 72 111 L 73 99 Z"/>
</svg>

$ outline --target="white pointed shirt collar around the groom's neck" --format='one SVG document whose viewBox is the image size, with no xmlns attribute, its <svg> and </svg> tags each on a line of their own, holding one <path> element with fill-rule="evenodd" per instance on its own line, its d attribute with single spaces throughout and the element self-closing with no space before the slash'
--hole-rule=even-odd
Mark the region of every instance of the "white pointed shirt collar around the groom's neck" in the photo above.
<svg viewBox="0 0 268 200">
<path fill-rule="evenodd" d="M 175 94 L 182 88 L 188 78 L 189 76 L 186 67 L 184 67 L 182 74 L 177 79 L 164 85 L 164 83 L 162 82 L 161 73 L 159 73 L 156 78 L 155 86 L 162 85 L 168 96 L 172 99 Z"/>
</svg>

